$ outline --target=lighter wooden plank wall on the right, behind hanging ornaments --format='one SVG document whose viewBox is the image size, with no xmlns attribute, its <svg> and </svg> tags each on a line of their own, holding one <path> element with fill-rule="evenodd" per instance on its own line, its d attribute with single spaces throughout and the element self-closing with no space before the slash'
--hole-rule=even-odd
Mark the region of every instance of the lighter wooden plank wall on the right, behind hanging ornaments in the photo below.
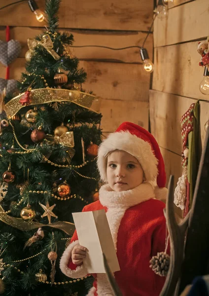
<svg viewBox="0 0 209 296">
<path fill-rule="evenodd" d="M 200 99 L 201 140 L 209 119 L 209 96 L 199 91 L 204 68 L 199 66 L 198 40 L 209 35 L 208 0 L 174 0 L 168 19 L 154 23 L 154 64 L 150 90 L 151 132 L 156 137 L 166 162 L 167 177 L 181 176 L 180 118 Z"/>
</svg>

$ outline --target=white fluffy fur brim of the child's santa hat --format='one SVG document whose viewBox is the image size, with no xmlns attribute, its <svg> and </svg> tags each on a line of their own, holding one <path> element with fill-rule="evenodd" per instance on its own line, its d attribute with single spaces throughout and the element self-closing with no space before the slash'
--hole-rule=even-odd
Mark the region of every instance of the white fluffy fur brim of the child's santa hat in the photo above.
<svg viewBox="0 0 209 296">
<path fill-rule="evenodd" d="M 129 131 L 121 131 L 109 134 L 99 147 L 97 165 L 101 179 L 104 182 L 107 181 L 105 157 L 110 151 L 114 150 L 124 150 L 135 156 L 142 167 L 146 181 L 155 181 L 158 175 L 158 160 L 152 151 L 151 145 L 132 135 Z"/>
</svg>

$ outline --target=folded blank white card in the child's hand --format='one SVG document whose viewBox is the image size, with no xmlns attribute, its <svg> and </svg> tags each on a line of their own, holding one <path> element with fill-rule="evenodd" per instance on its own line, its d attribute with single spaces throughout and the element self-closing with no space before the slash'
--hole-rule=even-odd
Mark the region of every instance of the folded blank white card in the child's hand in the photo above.
<svg viewBox="0 0 209 296">
<path fill-rule="evenodd" d="M 112 272 L 120 270 L 104 210 L 72 213 L 79 244 L 88 249 L 83 260 L 88 273 L 105 273 L 103 253 Z"/>
</svg>

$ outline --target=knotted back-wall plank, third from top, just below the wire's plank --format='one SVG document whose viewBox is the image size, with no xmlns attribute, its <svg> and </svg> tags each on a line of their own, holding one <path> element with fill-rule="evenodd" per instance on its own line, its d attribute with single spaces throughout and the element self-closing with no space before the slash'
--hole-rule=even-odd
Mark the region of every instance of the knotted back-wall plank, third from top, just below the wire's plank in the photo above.
<svg viewBox="0 0 209 296">
<path fill-rule="evenodd" d="M 80 61 L 87 72 L 83 83 L 86 91 L 104 99 L 148 102 L 150 75 L 138 64 Z M 25 59 L 17 58 L 10 66 L 10 79 L 20 79 L 25 71 Z M 0 78 L 5 78 L 6 67 L 0 64 Z"/>
</svg>

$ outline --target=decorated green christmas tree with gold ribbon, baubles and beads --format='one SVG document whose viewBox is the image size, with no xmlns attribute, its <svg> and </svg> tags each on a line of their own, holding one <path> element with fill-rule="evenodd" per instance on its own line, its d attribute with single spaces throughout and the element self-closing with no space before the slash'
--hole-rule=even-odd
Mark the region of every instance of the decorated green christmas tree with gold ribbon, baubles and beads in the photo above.
<svg viewBox="0 0 209 296">
<path fill-rule="evenodd" d="M 48 28 L 28 40 L 19 94 L 1 103 L 0 294 L 84 296 L 92 278 L 59 268 L 73 212 L 98 198 L 102 115 L 82 89 L 86 73 L 58 31 L 60 0 L 46 1 Z M 3 110 L 3 111 L 2 111 Z"/>
</svg>

